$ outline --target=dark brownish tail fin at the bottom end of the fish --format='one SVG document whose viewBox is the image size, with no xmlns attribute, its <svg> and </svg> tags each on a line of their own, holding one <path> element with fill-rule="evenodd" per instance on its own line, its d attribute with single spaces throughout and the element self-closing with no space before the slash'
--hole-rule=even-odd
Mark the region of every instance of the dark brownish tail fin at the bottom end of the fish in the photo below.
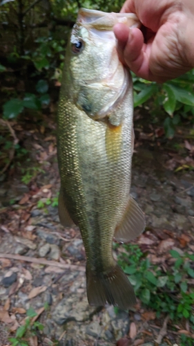
<svg viewBox="0 0 194 346">
<path fill-rule="evenodd" d="M 99 274 L 87 267 L 86 279 L 90 305 L 104 306 L 108 302 L 125 310 L 136 302 L 133 287 L 118 265 Z"/>
</svg>

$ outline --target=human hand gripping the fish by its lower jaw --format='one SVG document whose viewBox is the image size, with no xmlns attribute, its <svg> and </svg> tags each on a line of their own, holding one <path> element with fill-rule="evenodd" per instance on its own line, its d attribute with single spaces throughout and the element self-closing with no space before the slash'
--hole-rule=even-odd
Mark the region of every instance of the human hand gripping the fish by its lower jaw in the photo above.
<svg viewBox="0 0 194 346">
<path fill-rule="evenodd" d="M 126 0 L 121 12 L 143 24 L 114 27 L 119 58 L 137 76 L 165 82 L 194 67 L 193 0 Z"/>
</svg>

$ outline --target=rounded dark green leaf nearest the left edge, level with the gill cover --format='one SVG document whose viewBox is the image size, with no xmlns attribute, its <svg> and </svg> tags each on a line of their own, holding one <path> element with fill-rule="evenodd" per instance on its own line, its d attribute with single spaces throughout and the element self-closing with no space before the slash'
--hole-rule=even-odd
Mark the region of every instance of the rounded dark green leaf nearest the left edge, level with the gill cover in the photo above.
<svg viewBox="0 0 194 346">
<path fill-rule="evenodd" d="M 14 119 L 23 111 L 23 101 L 19 98 L 12 98 L 3 104 L 3 118 Z"/>
</svg>

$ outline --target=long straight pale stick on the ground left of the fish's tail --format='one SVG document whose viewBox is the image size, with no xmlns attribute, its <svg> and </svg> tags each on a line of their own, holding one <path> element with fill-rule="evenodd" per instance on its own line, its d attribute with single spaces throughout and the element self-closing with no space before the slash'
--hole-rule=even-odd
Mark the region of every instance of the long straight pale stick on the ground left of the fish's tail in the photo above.
<svg viewBox="0 0 194 346">
<path fill-rule="evenodd" d="M 37 264 L 43 264 L 44 266 L 58 266 L 63 269 L 71 269 L 75 271 L 85 271 L 86 268 L 84 266 L 76 266 L 75 264 L 64 264 L 55 261 L 48 261 L 43 258 L 35 258 L 21 255 L 11 255 L 10 253 L 0 253 L 0 258 L 8 258 L 10 260 L 24 261 L 24 262 L 32 262 Z"/>
</svg>

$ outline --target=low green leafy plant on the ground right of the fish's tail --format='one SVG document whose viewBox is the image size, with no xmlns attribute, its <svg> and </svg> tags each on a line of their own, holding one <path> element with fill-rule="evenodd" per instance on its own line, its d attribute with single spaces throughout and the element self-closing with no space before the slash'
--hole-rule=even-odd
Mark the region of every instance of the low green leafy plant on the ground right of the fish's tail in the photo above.
<svg viewBox="0 0 194 346">
<path fill-rule="evenodd" d="M 164 272 L 159 266 L 151 264 L 139 246 L 124 245 L 124 249 L 126 252 L 119 254 L 118 262 L 130 275 L 137 297 L 155 310 L 157 317 L 165 312 L 172 320 L 188 318 L 194 328 L 194 291 L 186 283 L 189 277 L 194 277 L 194 255 L 170 251 L 175 263 Z"/>
</svg>

